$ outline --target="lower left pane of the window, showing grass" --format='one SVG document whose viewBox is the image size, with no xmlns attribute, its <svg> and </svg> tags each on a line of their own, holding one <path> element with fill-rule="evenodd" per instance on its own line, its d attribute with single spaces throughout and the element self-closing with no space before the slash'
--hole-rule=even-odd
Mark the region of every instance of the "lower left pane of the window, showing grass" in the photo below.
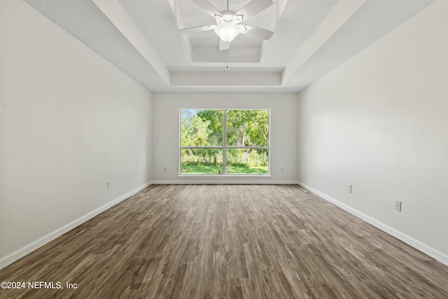
<svg viewBox="0 0 448 299">
<path fill-rule="evenodd" d="M 223 150 L 215 148 L 183 148 L 182 174 L 222 174 Z"/>
</svg>

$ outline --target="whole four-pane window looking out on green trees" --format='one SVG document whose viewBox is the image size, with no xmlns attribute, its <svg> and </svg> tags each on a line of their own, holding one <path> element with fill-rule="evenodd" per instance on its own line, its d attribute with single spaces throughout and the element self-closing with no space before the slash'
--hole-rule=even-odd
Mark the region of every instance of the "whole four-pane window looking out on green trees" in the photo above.
<svg viewBox="0 0 448 299">
<path fill-rule="evenodd" d="M 269 110 L 181 109 L 181 175 L 269 174 Z"/>
</svg>

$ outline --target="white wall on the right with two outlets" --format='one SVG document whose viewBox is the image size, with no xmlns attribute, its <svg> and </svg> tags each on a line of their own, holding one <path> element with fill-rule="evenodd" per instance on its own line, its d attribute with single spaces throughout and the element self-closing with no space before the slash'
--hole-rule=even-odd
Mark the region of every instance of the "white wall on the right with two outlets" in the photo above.
<svg viewBox="0 0 448 299">
<path fill-rule="evenodd" d="M 448 264 L 447 11 L 435 2 L 300 94 L 298 179 Z"/>
</svg>

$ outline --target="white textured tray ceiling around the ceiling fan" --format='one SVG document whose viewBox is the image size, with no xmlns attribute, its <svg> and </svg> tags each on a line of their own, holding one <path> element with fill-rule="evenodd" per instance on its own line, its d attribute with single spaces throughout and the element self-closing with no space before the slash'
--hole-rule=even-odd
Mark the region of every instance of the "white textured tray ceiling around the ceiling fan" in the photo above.
<svg viewBox="0 0 448 299">
<path fill-rule="evenodd" d="M 240 34 L 228 51 L 213 31 L 179 33 L 215 22 L 191 0 L 25 1 L 149 90 L 297 92 L 435 0 L 273 0 L 246 22 L 272 38 Z"/>
</svg>

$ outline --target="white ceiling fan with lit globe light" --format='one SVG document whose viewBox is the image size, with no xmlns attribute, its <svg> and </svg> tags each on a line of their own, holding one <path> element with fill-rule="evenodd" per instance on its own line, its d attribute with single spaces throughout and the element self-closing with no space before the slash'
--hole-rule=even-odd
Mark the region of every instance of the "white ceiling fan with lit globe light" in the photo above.
<svg viewBox="0 0 448 299">
<path fill-rule="evenodd" d="M 228 50 L 228 48 L 230 48 L 230 42 L 240 33 L 265 40 L 270 39 L 272 34 L 274 34 L 274 32 L 269 30 L 243 23 L 248 20 L 248 18 L 264 11 L 269 6 L 272 6 L 272 4 L 274 4 L 272 0 L 252 0 L 237 12 L 229 10 L 229 0 L 227 0 L 227 9 L 225 11 L 218 11 L 207 0 L 192 1 L 209 15 L 214 17 L 216 19 L 216 24 L 180 29 L 179 32 L 188 34 L 190 32 L 202 32 L 213 29 L 216 35 L 221 39 L 219 50 Z"/>
</svg>

